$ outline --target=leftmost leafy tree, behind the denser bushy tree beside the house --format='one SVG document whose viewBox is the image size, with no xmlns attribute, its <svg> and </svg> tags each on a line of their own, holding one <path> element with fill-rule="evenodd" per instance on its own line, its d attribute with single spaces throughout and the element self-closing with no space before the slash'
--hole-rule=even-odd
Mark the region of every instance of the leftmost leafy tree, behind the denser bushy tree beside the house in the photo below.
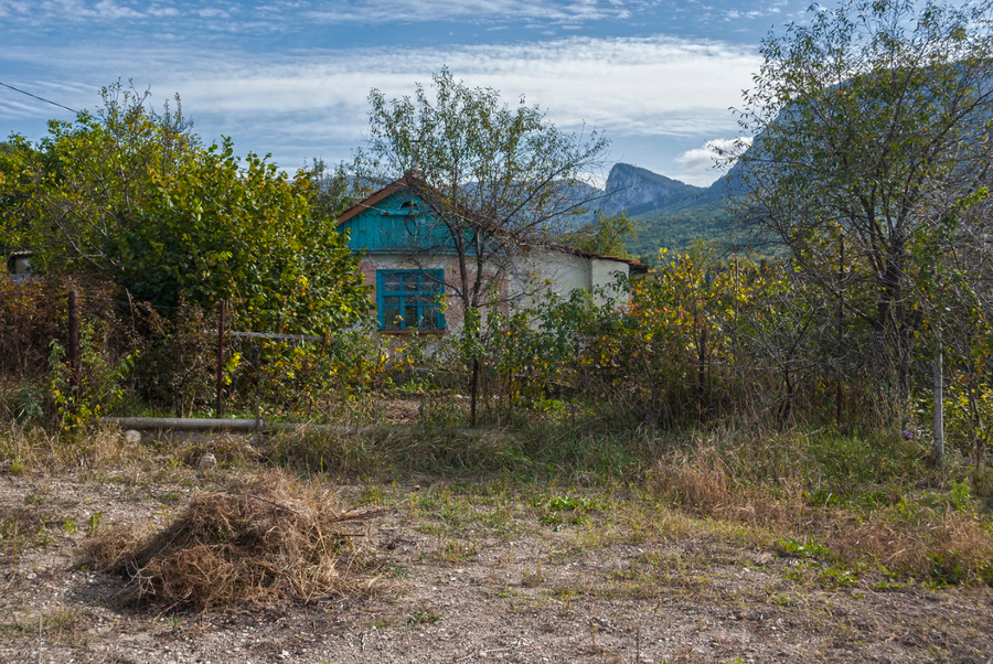
<svg viewBox="0 0 993 664">
<path fill-rule="evenodd" d="M 107 247 L 200 149 L 178 98 L 174 110 L 167 104 L 156 113 L 148 93 L 117 83 L 104 88 L 103 101 L 74 122 L 50 121 L 36 146 L 11 137 L 22 163 L 8 192 L 21 204 L 7 221 L 36 249 L 40 270 L 111 275 Z"/>
</svg>

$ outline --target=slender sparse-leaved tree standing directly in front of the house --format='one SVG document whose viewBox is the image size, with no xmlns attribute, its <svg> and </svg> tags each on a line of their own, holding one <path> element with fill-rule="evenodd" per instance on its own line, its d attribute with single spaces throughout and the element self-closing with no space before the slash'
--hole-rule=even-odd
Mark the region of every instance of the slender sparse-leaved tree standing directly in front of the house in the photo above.
<svg viewBox="0 0 993 664">
<path fill-rule="evenodd" d="M 524 98 L 510 108 L 493 88 L 471 88 L 442 69 L 413 98 L 387 100 L 373 89 L 370 141 L 353 169 L 360 181 L 403 176 L 444 231 L 408 243 L 410 260 L 453 253 L 457 270 L 446 289 L 467 317 L 501 293 L 525 245 L 548 242 L 597 195 L 587 176 L 607 147 L 559 131 Z M 431 98 L 434 97 L 434 98 Z"/>
</svg>

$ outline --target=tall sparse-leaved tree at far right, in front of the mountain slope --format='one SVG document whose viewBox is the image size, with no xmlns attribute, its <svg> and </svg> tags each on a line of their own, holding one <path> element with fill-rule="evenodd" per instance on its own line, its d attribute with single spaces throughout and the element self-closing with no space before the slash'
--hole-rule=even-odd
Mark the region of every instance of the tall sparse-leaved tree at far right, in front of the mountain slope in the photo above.
<svg viewBox="0 0 993 664">
<path fill-rule="evenodd" d="M 925 322 L 915 251 L 989 181 L 993 10 L 856 0 L 811 14 L 762 42 L 732 204 L 839 302 L 848 334 L 865 330 L 863 366 L 901 400 Z"/>
</svg>

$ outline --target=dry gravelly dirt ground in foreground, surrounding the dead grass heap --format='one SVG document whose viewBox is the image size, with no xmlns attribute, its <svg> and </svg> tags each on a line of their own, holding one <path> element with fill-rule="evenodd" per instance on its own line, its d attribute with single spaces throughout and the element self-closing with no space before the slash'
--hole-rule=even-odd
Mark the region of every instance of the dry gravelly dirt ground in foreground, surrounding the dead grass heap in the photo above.
<svg viewBox="0 0 993 664">
<path fill-rule="evenodd" d="M 94 527 L 164 527 L 222 481 L 0 472 L 0 662 L 993 662 L 989 587 L 812 581 L 732 538 L 544 523 L 433 478 L 339 488 L 387 507 L 350 525 L 377 571 L 346 597 L 162 614 L 81 567 Z"/>
</svg>

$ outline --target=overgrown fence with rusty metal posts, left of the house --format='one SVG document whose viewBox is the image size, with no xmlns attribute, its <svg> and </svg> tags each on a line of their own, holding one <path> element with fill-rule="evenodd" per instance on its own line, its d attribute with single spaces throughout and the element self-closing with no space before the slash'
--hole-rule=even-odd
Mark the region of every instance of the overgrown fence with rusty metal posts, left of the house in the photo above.
<svg viewBox="0 0 993 664">
<path fill-rule="evenodd" d="M 122 415 L 310 418 L 385 378 L 382 342 L 360 330 L 257 331 L 228 302 L 157 307 L 102 283 L 0 280 L 0 405 L 17 416 L 26 398 L 53 413 L 56 394 L 76 409 L 99 400 L 104 414 L 113 401 Z"/>
</svg>

